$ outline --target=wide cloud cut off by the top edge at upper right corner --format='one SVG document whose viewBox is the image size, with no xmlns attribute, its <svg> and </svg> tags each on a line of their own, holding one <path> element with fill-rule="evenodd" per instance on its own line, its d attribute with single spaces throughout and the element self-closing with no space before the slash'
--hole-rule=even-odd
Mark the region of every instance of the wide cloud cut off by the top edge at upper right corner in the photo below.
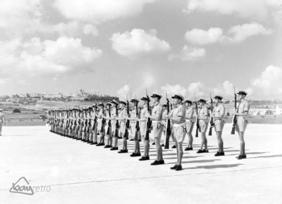
<svg viewBox="0 0 282 204">
<path fill-rule="evenodd" d="M 187 12 L 213 11 L 242 18 L 263 19 L 273 11 L 281 10 L 281 0 L 189 0 Z"/>
</svg>

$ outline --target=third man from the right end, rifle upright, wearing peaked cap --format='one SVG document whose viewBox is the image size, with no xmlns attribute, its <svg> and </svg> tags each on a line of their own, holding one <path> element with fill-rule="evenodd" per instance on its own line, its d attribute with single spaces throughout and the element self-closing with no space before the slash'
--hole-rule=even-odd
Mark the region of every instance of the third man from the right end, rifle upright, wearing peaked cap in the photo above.
<svg viewBox="0 0 282 204">
<path fill-rule="evenodd" d="M 207 128 L 208 128 L 208 123 L 207 123 L 207 119 L 208 119 L 208 109 L 205 106 L 205 104 L 207 103 L 207 101 L 205 99 L 200 99 L 198 101 L 200 103 L 200 107 L 199 107 L 199 111 L 198 111 L 198 116 L 197 119 L 199 120 L 199 131 L 201 133 L 201 147 L 200 149 L 197 151 L 197 153 L 208 153 L 208 141 L 207 141 L 207 137 L 206 137 L 206 132 L 207 132 Z M 203 146 L 205 146 L 205 149 L 202 150 Z"/>
</svg>

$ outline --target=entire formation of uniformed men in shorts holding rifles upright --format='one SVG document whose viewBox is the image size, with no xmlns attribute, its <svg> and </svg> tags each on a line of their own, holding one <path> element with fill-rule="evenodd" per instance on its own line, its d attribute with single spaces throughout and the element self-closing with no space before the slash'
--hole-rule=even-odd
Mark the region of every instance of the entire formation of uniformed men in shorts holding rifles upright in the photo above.
<svg viewBox="0 0 282 204">
<path fill-rule="evenodd" d="M 231 134 L 236 130 L 240 139 L 240 154 L 237 159 L 246 158 L 244 132 L 247 126 L 246 116 L 249 112 L 249 103 L 245 100 L 247 93 L 239 91 L 239 105 L 235 107 L 232 123 Z M 150 99 L 151 98 L 151 99 Z M 122 139 L 122 149 L 118 153 L 128 153 L 127 140 L 134 141 L 135 148 L 131 157 L 141 156 L 140 142 L 144 143 L 144 151 L 140 161 L 149 160 L 149 133 L 154 139 L 157 158 L 151 165 L 164 164 L 162 147 L 169 148 L 169 139 L 172 138 L 174 146 L 177 150 L 177 163 L 171 167 L 174 170 L 182 170 L 183 156 L 183 141 L 185 136 L 188 136 L 187 147 L 184 151 L 193 150 L 192 131 L 195 126 L 196 137 L 198 132 L 201 136 L 201 145 L 197 153 L 208 153 L 207 146 L 207 129 L 208 117 L 210 124 L 209 135 L 212 135 L 212 128 L 215 129 L 218 151 L 214 156 L 223 156 L 223 140 L 222 130 L 224 128 L 225 108 L 221 103 L 222 96 L 215 96 L 215 106 L 211 113 L 208 113 L 206 106 L 207 101 L 200 99 L 192 102 L 185 100 L 180 94 L 175 94 L 172 97 L 172 103 L 161 105 L 160 99 L 162 96 L 158 93 L 153 93 L 152 96 L 143 96 L 140 101 L 132 98 L 132 110 L 129 111 L 129 101 L 110 101 L 106 104 L 99 103 L 92 107 L 71 110 L 51 110 L 48 111 L 47 123 L 51 126 L 51 132 L 62 136 L 70 137 L 76 140 L 89 143 L 90 145 L 104 146 L 110 148 L 111 151 L 118 150 L 118 139 Z M 212 100 L 212 98 L 211 98 Z M 138 105 L 141 102 L 141 105 Z M 150 106 L 150 102 L 153 106 Z M 198 105 L 199 104 L 199 105 Z M 213 103 L 212 103 L 213 104 Z M 194 108 L 196 107 L 196 122 L 192 121 Z M 198 107 L 199 106 L 199 107 Z M 170 109 L 170 110 L 169 110 Z M 233 132 L 233 133 L 232 133 Z M 100 141 L 98 143 L 98 135 Z M 160 144 L 162 135 L 165 136 L 164 144 Z M 107 144 L 105 145 L 105 136 Z M 130 138 L 131 137 L 131 138 Z M 114 139 L 114 141 L 113 141 Z"/>
</svg>

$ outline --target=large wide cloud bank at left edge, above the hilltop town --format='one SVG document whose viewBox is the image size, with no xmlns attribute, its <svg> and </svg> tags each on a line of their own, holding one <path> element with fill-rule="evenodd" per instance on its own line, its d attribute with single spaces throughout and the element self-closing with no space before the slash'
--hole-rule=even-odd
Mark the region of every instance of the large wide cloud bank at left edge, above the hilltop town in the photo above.
<svg viewBox="0 0 282 204">
<path fill-rule="evenodd" d="M 5 73 L 53 74 L 88 67 L 102 55 L 102 50 L 84 47 L 81 39 L 60 37 L 56 41 L 33 38 L 22 42 L 0 41 L 3 59 L 0 69 Z"/>
</svg>

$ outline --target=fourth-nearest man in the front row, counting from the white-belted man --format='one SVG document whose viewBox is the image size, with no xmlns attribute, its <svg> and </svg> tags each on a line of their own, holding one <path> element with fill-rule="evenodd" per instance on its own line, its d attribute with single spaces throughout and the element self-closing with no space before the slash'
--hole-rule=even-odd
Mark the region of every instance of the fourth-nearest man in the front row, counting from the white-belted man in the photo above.
<svg viewBox="0 0 282 204">
<path fill-rule="evenodd" d="M 132 100 L 130 102 L 132 104 L 132 111 L 131 111 L 131 114 L 130 114 L 131 117 L 130 118 L 126 117 L 126 119 L 130 120 L 130 124 L 131 124 L 130 128 L 131 128 L 131 132 L 132 132 L 132 138 L 134 140 L 134 151 L 130 156 L 131 157 L 137 157 L 137 156 L 141 156 L 140 143 L 139 143 L 140 130 L 136 130 L 136 122 L 140 118 L 140 111 L 138 112 L 138 116 L 136 116 L 136 111 L 138 111 L 138 110 L 136 110 L 136 105 L 138 106 L 139 100 L 137 100 L 136 98 L 132 98 Z"/>
</svg>

